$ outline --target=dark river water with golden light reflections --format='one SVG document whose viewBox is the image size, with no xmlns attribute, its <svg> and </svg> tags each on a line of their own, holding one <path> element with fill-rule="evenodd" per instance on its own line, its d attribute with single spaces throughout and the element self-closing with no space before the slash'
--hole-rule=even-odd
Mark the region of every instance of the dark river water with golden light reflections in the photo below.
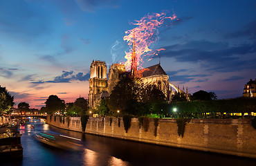
<svg viewBox="0 0 256 166">
<path fill-rule="evenodd" d="M 34 124 L 35 129 L 30 129 Z M 24 157 L 1 161 L 0 165 L 256 165 L 256 160 L 208 154 L 139 142 L 104 138 L 57 129 L 44 121 L 30 120 L 19 127 Z M 42 145 L 34 136 L 40 131 L 59 133 L 82 140 L 82 151 L 64 151 Z"/>
</svg>

